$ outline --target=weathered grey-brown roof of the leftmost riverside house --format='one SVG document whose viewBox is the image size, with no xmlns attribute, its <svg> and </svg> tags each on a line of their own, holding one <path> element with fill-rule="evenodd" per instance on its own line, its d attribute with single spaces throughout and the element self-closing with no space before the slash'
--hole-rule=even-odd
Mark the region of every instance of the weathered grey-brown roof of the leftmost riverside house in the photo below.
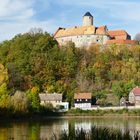
<svg viewBox="0 0 140 140">
<path fill-rule="evenodd" d="M 56 93 L 46 94 L 46 93 L 42 93 L 42 94 L 39 94 L 39 97 L 40 97 L 41 101 L 62 101 L 62 94 L 56 94 Z"/>
</svg>

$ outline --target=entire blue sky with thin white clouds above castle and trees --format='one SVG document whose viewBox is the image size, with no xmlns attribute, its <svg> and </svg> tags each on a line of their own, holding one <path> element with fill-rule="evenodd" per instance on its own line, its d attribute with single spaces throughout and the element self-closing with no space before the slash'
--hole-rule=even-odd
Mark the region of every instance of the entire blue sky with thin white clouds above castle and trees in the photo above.
<svg viewBox="0 0 140 140">
<path fill-rule="evenodd" d="M 58 27 L 81 26 L 89 11 L 94 25 L 140 32 L 140 0 L 0 0 L 0 42 L 31 28 L 53 34 Z"/>
</svg>

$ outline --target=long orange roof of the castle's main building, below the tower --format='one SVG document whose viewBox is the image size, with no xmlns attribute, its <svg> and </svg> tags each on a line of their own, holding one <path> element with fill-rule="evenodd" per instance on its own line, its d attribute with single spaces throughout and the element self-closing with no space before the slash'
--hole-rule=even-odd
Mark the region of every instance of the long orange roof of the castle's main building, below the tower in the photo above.
<svg viewBox="0 0 140 140">
<path fill-rule="evenodd" d="M 54 34 L 54 38 L 77 36 L 77 35 L 92 35 L 92 34 L 107 34 L 106 26 L 95 27 L 91 26 L 75 26 L 72 28 L 58 28 Z"/>
</svg>

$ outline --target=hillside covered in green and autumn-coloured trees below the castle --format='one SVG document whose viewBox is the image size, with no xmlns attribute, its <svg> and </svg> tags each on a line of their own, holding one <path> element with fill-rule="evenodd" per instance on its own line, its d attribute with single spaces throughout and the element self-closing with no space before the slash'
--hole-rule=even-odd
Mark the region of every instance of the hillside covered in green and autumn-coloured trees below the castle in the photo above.
<svg viewBox="0 0 140 140">
<path fill-rule="evenodd" d="M 140 86 L 140 46 L 59 47 L 48 33 L 30 32 L 0 44 L 8 89 L 58 92 L 68 101 L 75 92 L 118 97 Z"/>
</svg>

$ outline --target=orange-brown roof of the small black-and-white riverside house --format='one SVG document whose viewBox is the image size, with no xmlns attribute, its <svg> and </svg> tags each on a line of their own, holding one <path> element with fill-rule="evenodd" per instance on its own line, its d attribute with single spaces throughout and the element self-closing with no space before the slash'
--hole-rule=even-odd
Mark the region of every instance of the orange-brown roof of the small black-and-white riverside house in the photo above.
<svg viewBox="0 0 140 140">
<path fill-rule="evenodd" d="M 75 93 L 74 99 L 91 99 L 92 94 L 91 93 Z"/>
</svg>

